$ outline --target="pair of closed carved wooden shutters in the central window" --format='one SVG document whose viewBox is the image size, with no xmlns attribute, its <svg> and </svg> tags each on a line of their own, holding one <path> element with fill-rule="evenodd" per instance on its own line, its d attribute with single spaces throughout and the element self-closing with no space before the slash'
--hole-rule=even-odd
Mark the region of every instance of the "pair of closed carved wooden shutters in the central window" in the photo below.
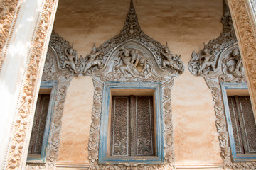
<svg viewBox="0 0 256 170">
<path fill-rule="evenodd" d="M 153 96 L 112 96 L 110 155 L 155 155 L 153 115 Z"/>
</svg>

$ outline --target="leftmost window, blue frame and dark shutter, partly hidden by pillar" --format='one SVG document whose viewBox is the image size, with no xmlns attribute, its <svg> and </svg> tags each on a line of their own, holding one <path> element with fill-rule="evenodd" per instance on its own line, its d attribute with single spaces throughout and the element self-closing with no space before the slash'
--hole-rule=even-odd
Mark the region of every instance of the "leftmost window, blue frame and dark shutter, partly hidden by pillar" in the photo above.
<svg viewBox="0 0 256 170">
<path fill-rule="evenodd" d="M 46 162 L 46 151 L 50 134 L 50 123 L 57 91 L 57 81 L 41 81 L 33 120 L 27 162 Z"/>
</svg>

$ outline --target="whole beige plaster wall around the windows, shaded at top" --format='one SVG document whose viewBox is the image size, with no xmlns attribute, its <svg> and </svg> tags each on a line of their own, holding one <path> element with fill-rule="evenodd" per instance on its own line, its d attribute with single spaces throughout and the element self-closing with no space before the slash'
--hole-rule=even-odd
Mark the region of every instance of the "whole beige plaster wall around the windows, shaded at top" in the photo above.
<svg viewBox="0 0 256 170">
<path fill-rule="evenodd" d="M 168 42 L 186 66 L 172 89 L 176 164 L 222 164 L 210 90 L 202 77 L 188 71 L 187 64 L 193 50 L 203 49 L 203 42 L 222 32 L 223 1 L 134 0 L 134 6 L 144 33 L 162 44 Z M 99 46 L 119 33 L 128 8 L 128 0 L 60 0 L 55 32 L 74 42 L 75 50 L 85 57 L 94 40 Z M 63 113 L 58 162 L 88 162 L 92 94 L 90 77 L 73 79 Z"/>
</svg>

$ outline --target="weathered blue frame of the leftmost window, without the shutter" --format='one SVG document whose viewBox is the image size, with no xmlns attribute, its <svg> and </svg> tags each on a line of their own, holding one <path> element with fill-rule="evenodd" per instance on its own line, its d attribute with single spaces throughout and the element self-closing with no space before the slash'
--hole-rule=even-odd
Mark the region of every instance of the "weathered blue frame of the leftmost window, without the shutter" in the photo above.
<svg viewBox="0 0 256 170">
<path fill-rule="evenodd" d="M 50 134 L 50 123 L 53 117 L 55 97 L 57 94 L 58 81 L 41 81 L 40 91 L 50 91 L 50 101 L 48 105 L 48 113 L 46 117 L 46 125 L 43 132 L 43 141 L 41 144 L 41 154 L 28 154 L 27 162 L 30 163 L 44 163 L 46 162 L 46 149 L 48 145 L 48 138 Z M 39 91 L 39 94 L 40 94 Z"/>
</svg>

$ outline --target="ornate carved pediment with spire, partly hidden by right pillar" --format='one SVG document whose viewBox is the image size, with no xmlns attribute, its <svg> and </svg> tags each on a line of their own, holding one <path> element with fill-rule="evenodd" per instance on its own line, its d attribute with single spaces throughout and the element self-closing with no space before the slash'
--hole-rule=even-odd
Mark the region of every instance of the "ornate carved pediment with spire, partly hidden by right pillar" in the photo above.
<svg viewBox="0 0 256 170">
<path fill-rule="evenodd" d="M 218 78 L 227 82 L 244 82 L 245 71 L 227 6 L 224 8 L 221 22 L 223 33 L 204 45 L 203 50 L 192 53 L 188 69 L 196 76 Z"/>
</svg>

